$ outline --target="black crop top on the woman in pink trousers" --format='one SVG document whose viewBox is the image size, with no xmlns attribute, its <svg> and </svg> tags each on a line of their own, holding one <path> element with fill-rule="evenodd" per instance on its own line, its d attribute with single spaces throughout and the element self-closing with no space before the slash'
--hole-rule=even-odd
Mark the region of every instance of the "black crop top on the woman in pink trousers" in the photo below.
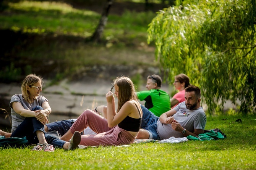
<svg viewBox="0 0 256 170">
<path fill-rule="evenodd" d="M 137 107 L 136 104 L 135 106 Z M 139 111 L 138 107 L 137 109 Z M 130 116 L 126 116 L 125 119 L 123 119 L 122 122 L 118 124 L 118 127 L 131 132 L 139 132 L 139 129 L 141 128 L 141 120 L 142 120 L 141 112 L 139 111 L 138 119 L 132 118 Z"/>
</svg>

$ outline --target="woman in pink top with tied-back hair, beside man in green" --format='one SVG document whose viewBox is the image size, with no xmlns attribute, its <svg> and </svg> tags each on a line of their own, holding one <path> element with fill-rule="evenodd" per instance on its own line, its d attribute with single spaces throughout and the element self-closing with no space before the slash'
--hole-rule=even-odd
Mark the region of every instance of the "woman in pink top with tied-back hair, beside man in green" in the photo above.
<svg viewBox="0 0 256 170">
<path fill-rule="evenodd" d="M 173 85 L 179 92 L 170 99 L 172 109 L 177 106 L 177 104 L 185 101 L 185 88 L 190 86 L 190 78 L 186 74 L 178 74 L 175 76 Z"/>
</svg>

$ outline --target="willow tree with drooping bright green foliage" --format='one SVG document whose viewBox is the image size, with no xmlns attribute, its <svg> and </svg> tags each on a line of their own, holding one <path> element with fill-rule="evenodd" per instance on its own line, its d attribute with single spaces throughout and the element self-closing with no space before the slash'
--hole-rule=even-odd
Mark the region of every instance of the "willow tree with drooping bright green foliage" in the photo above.
<svg viewBox="0 0 256 170">
<path fill-rule="evenodd" d="M 201 88 L 210 113 L 230 99 L 247 114 L 256 111 L 255 28 L 255 0 L 184 0 L 157 13 L 148 42 L 171 82 L 185 73 Z"/>
</svg>

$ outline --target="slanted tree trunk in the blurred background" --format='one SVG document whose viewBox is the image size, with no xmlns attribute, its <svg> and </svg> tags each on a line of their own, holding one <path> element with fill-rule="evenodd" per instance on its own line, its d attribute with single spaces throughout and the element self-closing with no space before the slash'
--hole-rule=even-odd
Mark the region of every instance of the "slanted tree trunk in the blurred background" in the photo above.
<svg viewBox="0 0 256 170">
<path fill-rule="evenodd" d="M 91 40 L 94 42 L 97 42 L 97 43 L 100 42 L 104 27 L 107 24 L 107 19 L 108 19 L 107 17 L 109 15 L 109 10 L 112 3 L 113 3 L 113 0 L 107 0 L 107 3 L 104 6 L 104 9 L 101 14 L 100 22 L 97 26 L 97 29 L 95 30 L 95 32 L 91 37 Z"/>
</svg>

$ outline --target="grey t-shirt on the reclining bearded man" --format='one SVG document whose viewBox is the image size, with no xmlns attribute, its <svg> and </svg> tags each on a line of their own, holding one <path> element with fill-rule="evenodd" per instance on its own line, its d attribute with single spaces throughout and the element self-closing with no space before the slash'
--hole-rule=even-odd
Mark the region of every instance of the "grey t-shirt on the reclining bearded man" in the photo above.
<svg viewBox="0 0 256 170">
<path fill-rule="evenodd" d="M 194 132 L 194 129 L 204 129 L 206 125 L 206 114 L 203 107 L 199 107 L 196 110 L 188 110 L 185 105 L 185 101 L 179 103 L 175 108 L 177 111 L 173 117 L 180 125 L 189 132 Z M 184 137 L 180 132 L 172 129 L 171 124 L 162 124 L 160 120 L 157 121 L 157 133 L 160 140 L 168 139 L 172 136 L 175 138 Z"/>
</svg>

